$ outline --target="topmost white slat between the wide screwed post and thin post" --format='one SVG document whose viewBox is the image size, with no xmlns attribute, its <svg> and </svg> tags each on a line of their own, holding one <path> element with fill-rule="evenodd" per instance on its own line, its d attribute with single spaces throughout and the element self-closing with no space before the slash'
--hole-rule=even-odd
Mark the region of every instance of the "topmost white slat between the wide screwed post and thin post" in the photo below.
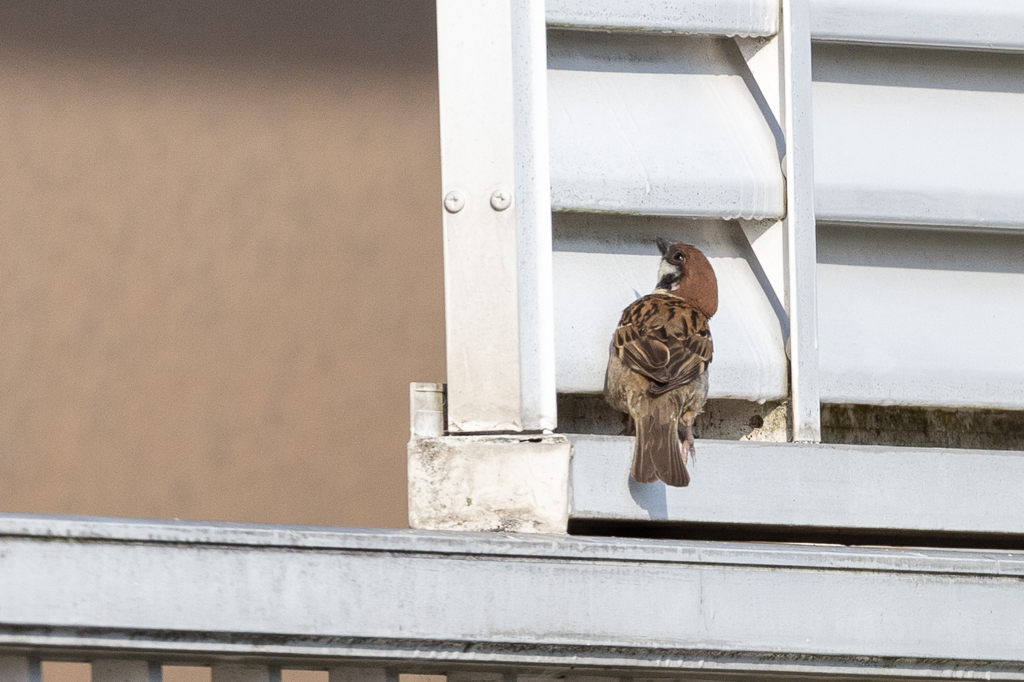
<svg viewBox="0 0 1024 682">
<path fill-rule="evenodd" d="M 770 0 L 548 0 L 548 25 L 721 36 L 771 36 L 778 4 Z"/>
</svg>

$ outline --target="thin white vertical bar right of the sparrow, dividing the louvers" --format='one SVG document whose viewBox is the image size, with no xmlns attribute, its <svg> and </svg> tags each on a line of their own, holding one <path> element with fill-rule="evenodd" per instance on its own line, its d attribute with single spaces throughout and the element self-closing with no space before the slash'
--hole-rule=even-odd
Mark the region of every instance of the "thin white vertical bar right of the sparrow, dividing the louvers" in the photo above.
<svg viewBox="0 0 1024 682">
<path fill-rule="evenodd" d="M 786 310 L 794 440 L 821 440 L 809 0 L 782 0 Z"/>
</svg>

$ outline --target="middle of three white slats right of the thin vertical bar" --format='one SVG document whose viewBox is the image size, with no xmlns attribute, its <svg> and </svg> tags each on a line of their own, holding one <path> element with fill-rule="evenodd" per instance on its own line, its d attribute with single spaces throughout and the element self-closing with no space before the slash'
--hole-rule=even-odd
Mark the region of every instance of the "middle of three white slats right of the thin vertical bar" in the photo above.
<svg viewBox="0 0 1024 682">
<path fill-rule="evenodd" d="M 1024 229 L 1022 74 L 1021 54 L 815 46 L 818 220 Z"/>
</svg>

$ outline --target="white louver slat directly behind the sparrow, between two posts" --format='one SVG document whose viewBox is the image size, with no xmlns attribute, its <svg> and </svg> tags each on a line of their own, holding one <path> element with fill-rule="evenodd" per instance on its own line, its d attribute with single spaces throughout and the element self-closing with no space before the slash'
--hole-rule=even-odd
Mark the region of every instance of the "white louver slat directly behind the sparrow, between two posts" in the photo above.
<svg viewBox="0 0 1024 682">
<path fill-rule="evenodd" d="M 784 397 L 785 313 L 740 227 L 621 215 L 555 216 L 558 390 L 603 390 L 608 344 L 618 316 L 657 282 L 657 237 L 696 245 L 718 276 L 710 394 L 749 400 Z"/>
</svg>

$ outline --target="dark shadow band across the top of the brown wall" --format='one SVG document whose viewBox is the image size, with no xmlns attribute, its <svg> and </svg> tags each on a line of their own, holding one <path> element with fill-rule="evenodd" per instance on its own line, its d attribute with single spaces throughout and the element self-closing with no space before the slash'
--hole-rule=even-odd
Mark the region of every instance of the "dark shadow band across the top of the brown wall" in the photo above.
<svg viewBox="0 0 1024 682">
<path fill-rule="evenodd" d="M 0 50 L 119 61 L 436 72 L 423 0 L 58 0 L 0 3 Z"/>
</svg>

